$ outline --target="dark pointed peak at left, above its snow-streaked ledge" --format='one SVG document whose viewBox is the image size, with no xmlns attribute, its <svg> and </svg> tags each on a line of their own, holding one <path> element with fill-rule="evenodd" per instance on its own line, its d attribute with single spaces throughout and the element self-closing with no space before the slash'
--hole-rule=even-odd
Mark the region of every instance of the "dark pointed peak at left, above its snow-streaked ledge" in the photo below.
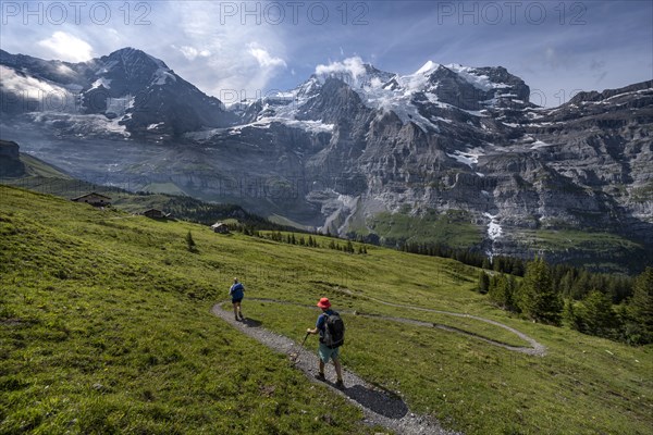
<svg viewBox="0 0 653 435">
<path fill-rule="evenodd" d="M 32 113 L 66 135 L 163 140 L 237 121 L 220 100 L 133 48 L 76 64 L 0 50 L 0 69 L 2 112 Z"/>
</svg>

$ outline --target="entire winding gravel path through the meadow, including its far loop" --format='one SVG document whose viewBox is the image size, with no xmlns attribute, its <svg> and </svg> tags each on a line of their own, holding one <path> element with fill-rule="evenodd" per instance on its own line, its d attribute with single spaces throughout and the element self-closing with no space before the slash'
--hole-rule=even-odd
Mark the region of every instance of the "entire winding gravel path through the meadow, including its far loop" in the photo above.
<svg viewBox="0 0 653 435">
<path fill-rule="evenodd" d="M 349 293 L 348 290 L 346 290 L 346 291 Z M 394 316 L 386 316 L 386 315 L 360 314 L 360 313 L 353 312 L 356 315 L 390 320 L 390 321 L 408 323 L 408 324 L 424 326 L 424 327 L 438 327 L 438 328 L 453 332 L 456 334 L 471 336 L 476 339 L 485 341 L 493 346 L 502 347 L 502 348 L 510 350 L 510 351 L 521 352 L 521 353 L 531 355 L 531 356 L 540 356 L 540 357 L 546 355 L 546 348 L 543 345 L 535 341 L 533 338 L 529 337 L 528 335 L 526 335 L 510 326 L 504 325 L 503 323 L 500 323 L 500 322 L 496 322 L 493 320 L 483 319 L 483 318 L 480 318 L 477 315 L 471 315 L 471 314 L 461 314 L 461 313 L 440 311 L 440 310 L 433 310 L 433 309 L 421 308 L 421 307 L 412 307 L 412 306 L 406 306 L 406 304 L 392 303 L 392 302 L 387 302 L 387 301 L 368 297 L 368 296 L 361 296 L 361 295 L 357 295 L 357 296 L 364 297 L 366 299 L 373 300 L 377 303 L 382 303 L 382 304 L 390 306 L 390 307 L 433 312 L 433 313 L 438 313 L 438 314 L 452 315 L 452 316 L 457 316 L 457 318 L 468 318 L 468 319 L 478 320 L 480 322 L 490 323 L 492 325 L 503 327 L 503 328 L 514 333 L 521 339 L 528 341 L 531 345 L 531 347 L 508 346 L 506 344 L 493 340 L 491 338 L 482 337 L 480 335 L 470 333 L 468 331 L 464 331 L 464 330 L 456 328 L 453 326 L 436 324 L 436 323 L 429 323 L 429 322 L 424 322 L 424 321 L 420 321 L 420 320 L 394 318 Z M 292 306 L 298 306 L 298 307 L 305 307 L 305 308 L 313 308 L 312 306 L 304 306 L 304 304 L 288 302 L 288 301 L 282 301 L 282 300 L 278 300 L 278 299 L 250 298 L 248 300 L 260 301 L 260 302 L 281 303 L 281 304 L 292 304 Z M 318 382 L 318 381 L 315 381 L 315 377 L 313 377 L 313 375 L 317 373 L 316 368 L 318 365 L 318 358 L 313 351 L 306 350 L 305 348 L 303 348 L 301 346 L 299 346 L 297 343 L 293 341 L 292 339 L 261 327 L 260 322 L 257 322 L 257 321 L 254 321 L 250 319 L 246 319 L 243 322 L 235 321 L 234 316 L 233 316 L 233 311 L 231 310 L 231 307 L 229 307 L 227 309 L 222 308 L 222 306 L 226 302 L 221 302 L 221 303 L 215 304 L 212 308 L 211 312 L 213 314 L 218 315 L 219 318 L 223 319 L 225 322 L 230 323 L 231 325 L 233 325 L 241 332 L 245 333 L 246 335 L 248 335 L 248 336 L 259 340 L 260 343 L 264 344 L 266 346 L 270 347 L 272 350 L 292 356 L 291 361 L 293 362 L 293 364 L 297 369 L 301 370 L 309 377 L 309 380 L 313 380 L 313 382 Z M 346 313 L 347 311 L 341 310 L 341 312 Z M 326 370 L 328 370 L 326 377 L 334 378 L 335 377 L 334 373 L 329 372 L 329 371 L 333 371 L 332 365 L 328 365 Z M 330 386 L 333 390 L 337 391 L 341 395 L 344 395 L 349 400 L 355 402 L 362 410 L 366 422 L 371 423 L 371 424 L 380 424 L 392 431 L 395 431 L 397 434 L 407 434 L 407 435 L 412 435 L 412 434 L 453 435 L 453 434 L 456 434 L 454 432 L 447 432 L 447 431 L 443 430 L 441 427 L 440 423 L 430 417 L 416 415 L 415 413 L 410 412 L 410 410 L 408 409 L 406 403 L 399 397 L 397 397 L 396 395 L 393 395 L 386 390 L 383 390 L 382 388 L 370 385 L 369 383 L 365 382 L 362 378 L 357 376 L 355 373 L 347 371 L 347 370 L 343 370 L 343 377 L 344 377 L 345 385 L 346 385 L 346 388 L 343 390 L 336 389 L 334 384 L 331 382 L 328 382 L 326 385 Z"/>
</svg>

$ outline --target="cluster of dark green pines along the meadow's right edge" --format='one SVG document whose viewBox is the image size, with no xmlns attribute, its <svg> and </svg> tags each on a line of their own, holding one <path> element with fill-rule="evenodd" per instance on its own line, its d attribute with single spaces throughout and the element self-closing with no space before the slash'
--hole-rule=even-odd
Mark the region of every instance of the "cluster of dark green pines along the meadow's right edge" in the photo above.
<svg viewBox="0 0 653 435">
<path fill-rule="evenodd" d="M 630 344 L 653 343 L 653 268 L 631 279 L 551 268 L 535 259 L 526 264 L 522 279 L 481 271 L 478 289 L 497 307 L 537 322 L 565 322 L 582 333 Z"/>
</svg>

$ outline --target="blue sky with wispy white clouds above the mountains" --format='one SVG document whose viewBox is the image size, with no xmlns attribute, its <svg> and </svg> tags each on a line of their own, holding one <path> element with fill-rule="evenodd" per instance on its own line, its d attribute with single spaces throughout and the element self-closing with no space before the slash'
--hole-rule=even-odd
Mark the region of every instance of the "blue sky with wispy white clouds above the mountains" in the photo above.
<svg viewBox="0 0 653 435">
<path fill-rule="evenodd" d="M 0 0 L 0 23 L 10 53 L 83 62 L 134 47 L 226 103 L 360 62 L 501 65 L 546 107 L 653 79 L 649 0 Z"/>
</svg>

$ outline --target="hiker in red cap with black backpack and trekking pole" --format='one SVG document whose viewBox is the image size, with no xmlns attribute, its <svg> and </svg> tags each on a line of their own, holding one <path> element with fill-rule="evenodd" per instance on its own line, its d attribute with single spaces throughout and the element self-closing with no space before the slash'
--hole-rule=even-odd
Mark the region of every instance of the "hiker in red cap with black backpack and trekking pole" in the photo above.
<svg viewBox="0 0 653 435">
<path fill-rule="evenodd" d="M 318 302 L 318 307 L 322 309 L 322 314 L 318 316 L 318 322 L 315 328 L 306 330 L 307 334 L 320 334 L 320 347 L 318 356 L 320 357 L 320 371 L 316 375 L 319 381 L 325 381 L 324 364 L 329 360 L 333 360 L 337 381 L 335 386 L 344 388 L 343 372 L 340 363 L 338 355 L 340 347 L 345 341 L 345 324 L 336 311 L 331 309 L 331 302 L 328 298 L 322 298 Z"/>
</svg>

